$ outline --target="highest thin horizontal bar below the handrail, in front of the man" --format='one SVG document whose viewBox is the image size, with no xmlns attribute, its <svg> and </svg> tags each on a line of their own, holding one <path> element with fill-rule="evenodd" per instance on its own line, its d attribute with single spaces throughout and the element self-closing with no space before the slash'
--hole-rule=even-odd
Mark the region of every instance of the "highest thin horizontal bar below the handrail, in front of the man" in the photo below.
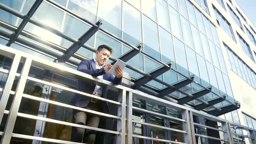
<svg viewBox="0 0 256 144">
<path fill-rule="evenodd" d="M 101 101 L 107 101 L 107 102 L 110 102 L 110 103 L 113 103 L 113 104 L 122 105 L 120 102 L 117 102 L 117 101 L 112 101 L 112 100 L 109 100 L 107 98 L 102 98 L 102 97 L 99 97 L 99 96 L 87 94 L 85 92 L 80 92 L 78 90 L 75 90 L 75 89 L 72 89 L 72 88 L 67 88 L 67 87 L 61 86 L 61 85 L 57 85 L 57 84 L 54 84 L 52 82 L 46 82 L 46 81 L 36 79 L 36 78 L 30 77 L 30 76 L 28 76 L 27 79 L 29 79 L 31 81 L 34 81 L 34 82 L 39 82 L 39 83 L 42 83 L 42 84 L 45 84 L 45 85 L 52 86 L 54 88 L 60 88 L 60 89 L 63 89 L 63 90 L 69 91 L 69 92 L 74 92 L 74 93 L 77 93 L 77 94 L 80 94 L 80 95 L 85 95 L 85 96 L 88 96 L 90 98 L 96 98 L 96 99 L 101 100 Z"/>
</svg>

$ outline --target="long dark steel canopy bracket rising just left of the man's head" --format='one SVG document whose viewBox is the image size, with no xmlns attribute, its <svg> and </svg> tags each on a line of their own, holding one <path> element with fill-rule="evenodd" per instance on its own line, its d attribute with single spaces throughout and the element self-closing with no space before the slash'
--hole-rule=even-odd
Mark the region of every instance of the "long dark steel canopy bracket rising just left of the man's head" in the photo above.
<svg viewBox="0 0 256 144">
<path fill-rule="evenodd" d="M 66 62 L 71 56 L 73 56 L 73 54 L 98 31 L 99 27 L 102 25 L 102 20 L 99 20 L 95 25 L 97 26 L 90 27 L 90 29 L 88 29 L 76 43 L 73 43 L 67 49 L 67 51 L 58 59 L 59 62 Z"/>
</svg>

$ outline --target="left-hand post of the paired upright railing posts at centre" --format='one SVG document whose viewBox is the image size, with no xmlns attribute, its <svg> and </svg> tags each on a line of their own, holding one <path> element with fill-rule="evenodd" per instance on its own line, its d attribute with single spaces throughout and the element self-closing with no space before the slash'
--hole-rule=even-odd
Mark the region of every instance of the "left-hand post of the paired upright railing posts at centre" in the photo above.
<svg viewBox="0 0 256 144">
<path fill-rule="evenodd" d="M 118 89 L 118 102 L 122 105 L 118 105 L 117 115 L 121 117 L 121 120 L 117 121 L 117 131 L 120 132 L 117 135 L 116 144 L 125 144 L 125 119 L 126 119 L 126 91 Z"/>
</svg>

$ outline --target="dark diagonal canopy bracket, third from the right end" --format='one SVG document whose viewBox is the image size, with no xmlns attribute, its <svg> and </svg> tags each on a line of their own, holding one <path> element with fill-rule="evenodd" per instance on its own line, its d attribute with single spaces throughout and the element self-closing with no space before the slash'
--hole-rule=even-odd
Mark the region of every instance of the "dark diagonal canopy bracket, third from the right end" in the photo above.
<svg viewBox="0 0 256 144">
<path fill-rule="evenodd" d="M 193 95 L 193 97 L 184 96 L 182 98 L 179 98 L 178 104 L 180 104 L 180 105 L 186 104 L 187 102 L 192 101 L 195 98 L 200 98 L 201 96 L 210 93 L 211 90 L 212 90 L 212 87 L 210 86 L 210 87 L 207 87 L 207 88 L 208 89 L 201 89 L 199 91 L 191 93 L 191 95 Z"/>
</svg>

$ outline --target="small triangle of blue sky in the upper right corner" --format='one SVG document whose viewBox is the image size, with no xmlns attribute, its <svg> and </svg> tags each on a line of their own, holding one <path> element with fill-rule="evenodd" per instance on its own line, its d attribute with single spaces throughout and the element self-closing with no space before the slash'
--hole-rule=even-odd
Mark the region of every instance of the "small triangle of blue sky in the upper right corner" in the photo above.
<svg viewBox="0 0 256 144">
<path fill-rule="evenodd" d="M 256 27 L 256 0 L 236 0 L 243 12 Z"/>
</svg>

